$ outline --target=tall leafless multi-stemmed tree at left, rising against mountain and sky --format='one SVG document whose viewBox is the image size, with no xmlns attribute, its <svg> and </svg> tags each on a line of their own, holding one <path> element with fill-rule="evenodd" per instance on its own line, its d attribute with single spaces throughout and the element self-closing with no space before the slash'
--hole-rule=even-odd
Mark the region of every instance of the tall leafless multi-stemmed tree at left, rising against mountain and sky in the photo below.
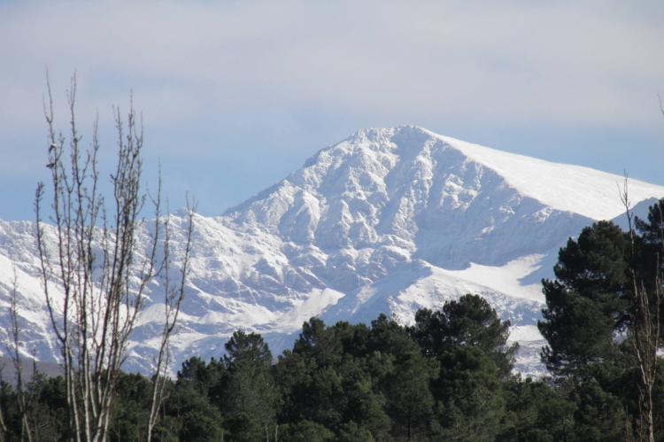
<svg viewBox="0 0 664 442">
<path fill-rule="evenodd" d="M 89 147 L 81 147 L 74 112 L 75 75 L 67 92 L 68 136 L 57 134 L 54 127 L 48 74 L 46 85 L 52 228 L 42 221 L 45 186 L 40 183 L 35 213 L 42 284 L 65 368 L 71 438 L 104 441 L 120 367 L 127 359 L 128 340 L 147 297 L 148 284 L 159 272 L 169 271 L 168 262 L 158 259 L 159 248 L 168 248 L 168 224 L 161 213 L 160 181 L 156 198 L 147 198 L 141 190 L 143 128 L 133 102 L 125 119 L 119 108 L 113 112 L 117 158 L 111 174 L 112 198 L 107 205 L 99 182 L 97 120 Z M 154 211 L 152 221 L 143 218 L 146 202 Z M 188 229 L 190 237 L 190 224 Z M 50 242 L 47 235 L 55 236 L 55 241 Z M 185 262 L 188 254 L 189 245 Z M 185 274 L 186 268 L 182 278 Z"/>
</svg>

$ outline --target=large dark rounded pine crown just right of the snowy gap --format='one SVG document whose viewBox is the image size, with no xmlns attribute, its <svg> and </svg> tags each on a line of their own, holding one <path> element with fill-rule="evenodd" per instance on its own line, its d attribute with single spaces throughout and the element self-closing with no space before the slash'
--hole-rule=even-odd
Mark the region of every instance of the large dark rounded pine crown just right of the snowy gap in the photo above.
<svg viewBox="0 0 664 442">
<path fill-rule="evenodd" d="M 628 252 L 628 237 L 608 221 L 583 229 L 560 249 L 556 280 L 543 281 L 546 308 L 538 323 L 554 374 L 578 374 L 615 357 L 614 334 L 628 321 Z"/>
</svg>

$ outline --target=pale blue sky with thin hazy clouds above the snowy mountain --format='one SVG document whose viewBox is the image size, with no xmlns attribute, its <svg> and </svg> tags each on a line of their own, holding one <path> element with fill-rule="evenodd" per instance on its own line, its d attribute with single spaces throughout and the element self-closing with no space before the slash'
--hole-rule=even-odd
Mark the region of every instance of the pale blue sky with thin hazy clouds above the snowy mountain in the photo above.
<svg viewBox="0 0 664 442">
<path fill-rule="evenodd" d="M 143 112 L 145 179 L 222 213 L 358 128 L 417 124 L 664 185 L 662 2 L 0 0 L 0 218 L 47 178 L 44 66 L 66 128 Z M 88 138 L 89 139 L 89 138 Z"/>
</svg>

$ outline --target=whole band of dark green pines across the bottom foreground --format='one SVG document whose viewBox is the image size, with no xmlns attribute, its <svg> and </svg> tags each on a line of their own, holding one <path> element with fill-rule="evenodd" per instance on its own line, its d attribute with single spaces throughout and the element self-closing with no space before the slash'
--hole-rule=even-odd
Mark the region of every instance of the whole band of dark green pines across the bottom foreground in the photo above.
<svg viewBox="0 0 664 442">
<path fill-rule="evenodd" d="M 549 376 L 513 373 L 509 322 L 472 294 L 412 325 L 312 318 L 280 355 L 238 330 L 220 359 L 185 361 L 153 439 L 664 440 L 663 211 L 627 232 L 597 222 L 560 249 L 538 324 Z M 4 439 L 73 439 L 65 381 L 37 374 L 24 390 L 2 384 Z M 120 377 L 112 440 L 146 438 L 151 392 L 149 378 Z"/>
</svg>

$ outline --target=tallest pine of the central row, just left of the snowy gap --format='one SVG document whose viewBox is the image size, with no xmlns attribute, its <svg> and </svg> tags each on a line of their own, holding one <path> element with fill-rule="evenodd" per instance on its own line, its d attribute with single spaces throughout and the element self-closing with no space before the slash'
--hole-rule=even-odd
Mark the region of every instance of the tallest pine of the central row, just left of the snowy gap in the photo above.
<svg viewBox="0 0 664 442">
<path fill-rule="evenodd" d="M 438 438 L 493 440 L 506 413 L 501 381 L 509 377 L 514 346 L 502 322 L 483 298 L 466 295 L 443 310 L 415 314 L 411 334 L 439 363 L 431 382 Z"/>
</svg>

